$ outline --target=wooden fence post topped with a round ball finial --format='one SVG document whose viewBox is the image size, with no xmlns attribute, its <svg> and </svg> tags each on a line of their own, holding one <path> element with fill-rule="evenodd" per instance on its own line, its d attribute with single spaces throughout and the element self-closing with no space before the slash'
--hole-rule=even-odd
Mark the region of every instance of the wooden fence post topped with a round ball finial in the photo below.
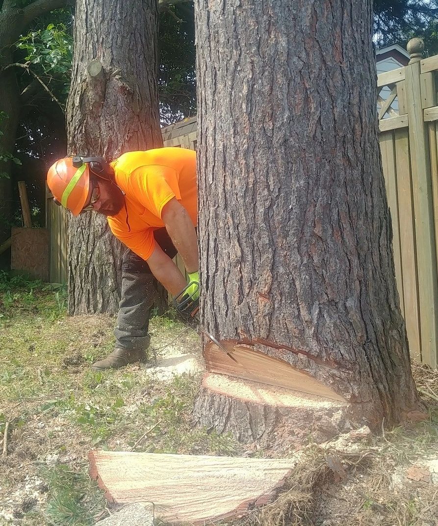
<svg viewBox="0 0 438 526">
<path fill-rule="evenodd" d="M 422 360 L 436 367 L 438 343 L 438 277 L 429 140 L 423 119 L 421 67 L 424 43 L 413 38 L 407 44 L 411 60 L 406 66 L 406 97 L 409 116 L 415 241 L 419 275 Z"/>
</svg>

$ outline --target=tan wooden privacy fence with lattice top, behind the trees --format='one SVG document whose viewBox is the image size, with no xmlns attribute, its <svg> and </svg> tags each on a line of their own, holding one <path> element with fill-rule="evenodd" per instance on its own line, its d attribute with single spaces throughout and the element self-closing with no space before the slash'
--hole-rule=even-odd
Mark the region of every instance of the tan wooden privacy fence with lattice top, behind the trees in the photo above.
<svg viewBox="0 0 438 526">
<path fill-rule="evenodd" d="M 408 66 L 377 77 L 380 145 L 393 226 L 400 305 L 411 355 L 437 366 L 438 55 L 422 59 L 412 39 Z M 196 118 L 163 129 L 164 146 L 196 149 Z M 47 194 L 51 281 L 65 282 L 65 216 Z M 176 259 L 184 272 L 182 261 Z"/>
</svg>

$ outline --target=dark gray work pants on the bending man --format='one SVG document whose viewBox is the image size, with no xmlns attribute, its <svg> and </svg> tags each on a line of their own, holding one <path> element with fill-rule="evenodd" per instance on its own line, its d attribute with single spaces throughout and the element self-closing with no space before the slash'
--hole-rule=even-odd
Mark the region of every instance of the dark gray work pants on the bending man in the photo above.
<svg viewBox="0 0 438 526">
<path fill-rule="evenodd" d="M 154 237 L 167 256 L 174 258 L 176 248 L 167 230 L 155 230 Z M 157 290 L 156 283 L 147 262 L 127 248 L 122 260 L 122 298 L 114 329 L 116 348 L 145 350 L 149 346 L 151 338 L 147 331 Z"/>
</svg>

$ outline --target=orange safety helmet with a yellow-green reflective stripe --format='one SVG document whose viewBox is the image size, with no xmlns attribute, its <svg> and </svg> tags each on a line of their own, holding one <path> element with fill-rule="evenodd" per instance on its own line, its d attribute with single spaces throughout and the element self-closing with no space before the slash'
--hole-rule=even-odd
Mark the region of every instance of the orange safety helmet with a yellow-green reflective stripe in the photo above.
<svg viewBox="0 0 438 526">
<path fill-rule="evenodd" d="M 73 157 L 64 157 L 49 168 L 47 186 L 56 201 L 77 216 L 87 202 L 89 176 L 88 163 L 84 162 L 77 168 L 73 164 Z"/>
</svg>

